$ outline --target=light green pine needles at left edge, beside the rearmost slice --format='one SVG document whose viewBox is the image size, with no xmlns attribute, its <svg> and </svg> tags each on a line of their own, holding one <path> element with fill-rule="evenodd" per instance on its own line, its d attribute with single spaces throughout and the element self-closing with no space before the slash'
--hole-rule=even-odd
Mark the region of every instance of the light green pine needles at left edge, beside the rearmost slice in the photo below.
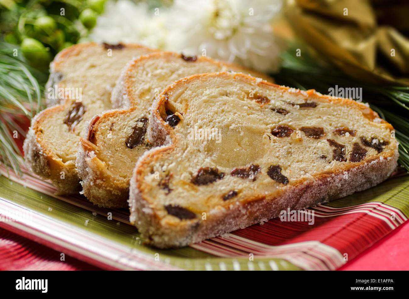
<svg viewBox="0 0 409 299">
<path fill-rule="evenodd" d="M 16 45 L 0 42 L 0 159 L 17 174 L 21 174 L 18 161 L 21 153 L 16 136 L 25 137 L 19 123 L 42 108 L 45 80 L 47 74 L 29 67 Z"/>
</svg>

